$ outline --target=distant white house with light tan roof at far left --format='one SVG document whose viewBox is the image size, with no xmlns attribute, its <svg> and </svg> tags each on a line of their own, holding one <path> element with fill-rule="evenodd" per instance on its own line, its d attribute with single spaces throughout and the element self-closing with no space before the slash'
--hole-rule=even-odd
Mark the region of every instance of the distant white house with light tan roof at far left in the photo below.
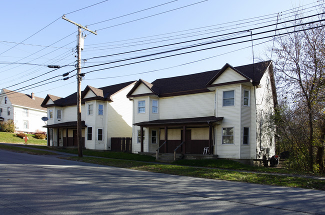
<svg viewBox="0 0 325 215">
<path fill-rule="evenodd" d="M 43 98 L 2 89 L 0 93 L 0 121 L 13 120 L 16 131 L 46 131 L 41 117 L 46 116 L 46 108 L 40 106 Z"/>
</svg>

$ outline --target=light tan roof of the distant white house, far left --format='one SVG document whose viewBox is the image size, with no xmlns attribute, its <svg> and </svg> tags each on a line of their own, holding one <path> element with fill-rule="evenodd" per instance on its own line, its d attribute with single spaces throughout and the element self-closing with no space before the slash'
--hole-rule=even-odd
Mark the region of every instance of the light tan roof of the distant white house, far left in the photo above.
<svg viewBox="0 0 325 215">
<path fill-rule="evenodd" d="M 3 89 L 3 92 L 6 93 L 5 96 L 8 97 L 11 104 L 13 105 L 20 105 L 20 106 L 25 106 L 25 107 L 35 108 L 35 109 L 46 110 L 46 108 L 40 106 L 40 104 L 43 101 L 43 98 L 41 97 L 34 96 L 35 99 L 32 99 L 31 94 L 28 95 L 20 92 L 14 92 L 9 89 Z"/>
</svg>

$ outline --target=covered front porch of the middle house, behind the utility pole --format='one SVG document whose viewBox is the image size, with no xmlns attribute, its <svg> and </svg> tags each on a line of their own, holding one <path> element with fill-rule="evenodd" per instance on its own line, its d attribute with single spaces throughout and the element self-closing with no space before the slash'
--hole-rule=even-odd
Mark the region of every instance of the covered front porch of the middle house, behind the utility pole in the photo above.
<svg viewBox="0 0 325 215">
<path fill-rule="evenodd" d="M 56 124 L 44 125 L 47 128 L 47 145 L 54 147 L 77 147 L 77 122 L 68 121 Z M 87 127 L 84 121 L 81 121 L 82 133 Z M 82 148 L 84 148 L 84 136 L 81 138 Z"/>
</svg>

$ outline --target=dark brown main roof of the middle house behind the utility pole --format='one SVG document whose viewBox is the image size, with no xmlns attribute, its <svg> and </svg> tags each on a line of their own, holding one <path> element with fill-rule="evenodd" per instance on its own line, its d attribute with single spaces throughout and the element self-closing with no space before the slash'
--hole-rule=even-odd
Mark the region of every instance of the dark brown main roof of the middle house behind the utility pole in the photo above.
<svg viewBox="0 0 325 215">
<path fill-rule="evenodd" d="M 93 86 L 87 85 L 85 87 L 85 89 L 83 91 L 81 91 L 81 101 L 84 102 L 85 100 L 90 100 L 90 99 L 91 100 L 97 99 L 97 100 L 112 101 L 111 96 L 113 94 L 115 94 L 119 90 L 125 88 L 126 86 L 128 86 L 128 85 L 130 85 L 130 84 L 132 84 L 134 82 L 135 81 L 128 81 L 128 82 L 118 83 L 118 84 L 114 84 L 114 85 L 110 85 L 110 86 L 104 86 L 104 87 L 100 87 L 100 88 L 95 88 Z M 88 92 L 88 90 L 91 90 L 95 94 L 95 96 L 91 97 L 91 98 L 83 99 L 83 96 Z M 54 104 L 46 104 L 48 99 L 52 99 Z M 76 105 L 76 92 L 74 92 L 74 93 L 72 93 L 72 94 L 70 94 L 70 95 L 68 95 L 68 96 L 66 96 L 64 98 L 53 96 L 53 95 L 47 95 L 45 97 L 45 99 L 43 100 L 41 105 L 43 107 Z"/>
</svg>

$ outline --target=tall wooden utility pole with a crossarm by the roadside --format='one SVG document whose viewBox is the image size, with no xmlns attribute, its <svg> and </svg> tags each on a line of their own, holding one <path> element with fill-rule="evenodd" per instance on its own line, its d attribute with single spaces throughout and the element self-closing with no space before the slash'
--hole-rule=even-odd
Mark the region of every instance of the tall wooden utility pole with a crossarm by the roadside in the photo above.
<svg viewBox="0 0 325 215">
<path fill-rule="evenodd" d="M 77 91 L 76 91 L 76 103 L 77 103 L 77 142 L 78 142 L 78 156 L 82 157 L 82 134 L 81 134 L 81 78 L 83 75 L 81 74 L 81 28 L 97 35 L 95 31 L 89 30 L 87 27 L 83 27 L 80 24 L 75 23 L 74 21 L 71 21 L 67 18 L 65 18 L 65 15 L 62 16 L 62 18 L 68 22 L 71 22 L 72 24 L 75 24 L 78 26 L 78 42 L 77 42 Z"/>
</svg>

